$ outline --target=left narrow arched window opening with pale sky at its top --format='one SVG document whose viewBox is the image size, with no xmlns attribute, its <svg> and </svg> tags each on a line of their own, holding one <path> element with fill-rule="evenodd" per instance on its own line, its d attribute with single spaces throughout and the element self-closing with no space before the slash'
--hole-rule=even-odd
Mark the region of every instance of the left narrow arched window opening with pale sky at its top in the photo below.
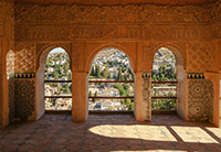
<svg viewBox="0 0 221 152">
<path fill-rule="evenodd" d="M 44 72 L 45 110 L 72 109 L 72 72 L 69 54 L 61 47 L 46 56 Z"/>
</svg>

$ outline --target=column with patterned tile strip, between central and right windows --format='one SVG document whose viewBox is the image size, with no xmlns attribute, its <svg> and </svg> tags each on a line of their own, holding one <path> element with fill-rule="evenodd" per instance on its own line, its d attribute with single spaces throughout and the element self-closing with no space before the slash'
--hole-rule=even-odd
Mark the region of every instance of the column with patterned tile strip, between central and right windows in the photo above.
<svg viewBox="0 0 221 152">
<path fill-rule="evenodd" d="M 151 120 L 151 75 L 150 73 L 135 73 L 135 117 L 137 121 Z"/>
</svg>

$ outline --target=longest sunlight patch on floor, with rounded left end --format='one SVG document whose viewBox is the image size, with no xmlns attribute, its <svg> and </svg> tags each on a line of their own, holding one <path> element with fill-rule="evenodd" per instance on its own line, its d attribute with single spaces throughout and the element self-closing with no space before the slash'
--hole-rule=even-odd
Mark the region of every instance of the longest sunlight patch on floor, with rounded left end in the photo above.
<svg viewBox="0 0 221 152">
<path fill-rule="evenodd" d="M 103 124 L 90 129 L 91 132 L 110 138 L 141 139 L 151 141 L 177 141 L 164 126 L 114 126 Z"/>
</svg>

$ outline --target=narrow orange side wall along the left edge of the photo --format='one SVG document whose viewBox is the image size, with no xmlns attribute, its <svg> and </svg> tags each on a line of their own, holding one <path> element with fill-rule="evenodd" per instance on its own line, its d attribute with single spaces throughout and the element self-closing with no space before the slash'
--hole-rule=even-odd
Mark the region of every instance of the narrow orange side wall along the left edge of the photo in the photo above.
<svg viewBox="0 0 221 152">
<path fill-rule="evenodd" d="M 14 51 L 14 4 L 11 0 L 0 1 L 0 126 L 9 120 L 7 54 Z"/>
</svg>

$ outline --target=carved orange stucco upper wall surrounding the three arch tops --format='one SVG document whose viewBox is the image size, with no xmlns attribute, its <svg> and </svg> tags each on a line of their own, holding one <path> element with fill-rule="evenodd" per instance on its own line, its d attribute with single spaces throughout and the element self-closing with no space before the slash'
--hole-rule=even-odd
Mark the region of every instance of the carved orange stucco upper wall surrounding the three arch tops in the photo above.
<svg viewBox="0 0 221 152">
<path fill-rule="evenodd" d="M 220 6 L 220 1 L 172 7 L 17 3 L 15 72 L 36 72 L 40 54 L 49 45 L 70 48 L 72 69 L 86 72 L 97 42 L 135 44 L 136 70 L 150 72 L 156 48 L 172 46 L 181 53 L 187 73 L 218 72 L 219 51 L 212 40 L 221 39 Z"/>
</svg>

